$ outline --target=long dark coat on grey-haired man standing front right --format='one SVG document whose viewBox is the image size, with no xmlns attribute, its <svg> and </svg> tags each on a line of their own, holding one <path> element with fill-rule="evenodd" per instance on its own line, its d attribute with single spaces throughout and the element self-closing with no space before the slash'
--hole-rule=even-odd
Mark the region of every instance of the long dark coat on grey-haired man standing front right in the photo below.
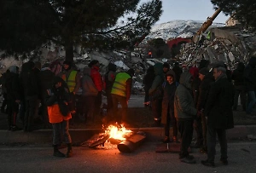
<svg viewBox="0 0 256 173">
<path fill-rule="evenodd" d="M 233 85 L 225 75 L 212 83 L 205 109 L 207 125 L 223 130 L 234 128 L 234 93 Z"/>
</svg>

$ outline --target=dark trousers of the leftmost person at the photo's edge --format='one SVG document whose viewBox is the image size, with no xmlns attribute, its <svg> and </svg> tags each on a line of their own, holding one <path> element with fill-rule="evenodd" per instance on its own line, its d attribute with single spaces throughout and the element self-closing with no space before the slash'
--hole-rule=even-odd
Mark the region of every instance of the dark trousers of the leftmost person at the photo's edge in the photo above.
<svg viewBox="0 0 256 173">
<path fill-rule="evenodd" d="M 17 114 L 19 112 L 19 104 L 13 100 L 7 100 L 8 109 L 8 126 L 9 128 L 16 125 Z"/>
</svg>

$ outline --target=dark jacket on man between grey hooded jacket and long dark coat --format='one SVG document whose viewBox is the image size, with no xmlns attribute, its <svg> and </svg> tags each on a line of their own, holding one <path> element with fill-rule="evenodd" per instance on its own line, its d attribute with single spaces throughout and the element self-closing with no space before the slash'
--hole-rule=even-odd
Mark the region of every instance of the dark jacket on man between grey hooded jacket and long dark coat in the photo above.
<svg viewBox="0 0 256 173">
<path fill-rule="evenodd" d="M 199 86 L 199 95 L 196 103 L 196 109 L 198 111 L 205 108 L 212 83 L 214 83 L 214 78 L 212 76 L 212 72 L 209 72 L 201 81 Z"/>
</svg>

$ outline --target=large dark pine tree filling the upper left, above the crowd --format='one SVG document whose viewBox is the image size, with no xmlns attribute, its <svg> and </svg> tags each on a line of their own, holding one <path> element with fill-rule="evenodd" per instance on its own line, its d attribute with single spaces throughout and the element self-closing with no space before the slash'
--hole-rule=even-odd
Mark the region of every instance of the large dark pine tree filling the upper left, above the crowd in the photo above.
<svg viewBox="0 0 256 173">
<path fill-rule="evenodd" d="M 73 61 L 73 46 L 132 49 L 162 13 L 160 0 L 2 0 L 0 49 L 26 54 L 49 41 L 63 45 Z M 126 17 L 129 16 L 129 17 Z M 120 22 L 120 18 L 124 18 Z"/>
</svg>

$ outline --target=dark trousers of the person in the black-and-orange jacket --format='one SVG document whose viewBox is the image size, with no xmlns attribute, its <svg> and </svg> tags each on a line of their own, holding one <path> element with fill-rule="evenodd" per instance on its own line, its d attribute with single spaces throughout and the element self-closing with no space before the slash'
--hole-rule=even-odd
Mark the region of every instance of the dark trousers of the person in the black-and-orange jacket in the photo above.
<svg viewBox="0 0 256 173">
<path fill-rule="evenodd" d="M 69 122 L 63 120 L 61 123 L 52 124 L 53 129 L 53 145 L 61 145 L 62 137 L 66 143 L 72 143 L 71 136 L 69 134 Z"/>
</svg>

